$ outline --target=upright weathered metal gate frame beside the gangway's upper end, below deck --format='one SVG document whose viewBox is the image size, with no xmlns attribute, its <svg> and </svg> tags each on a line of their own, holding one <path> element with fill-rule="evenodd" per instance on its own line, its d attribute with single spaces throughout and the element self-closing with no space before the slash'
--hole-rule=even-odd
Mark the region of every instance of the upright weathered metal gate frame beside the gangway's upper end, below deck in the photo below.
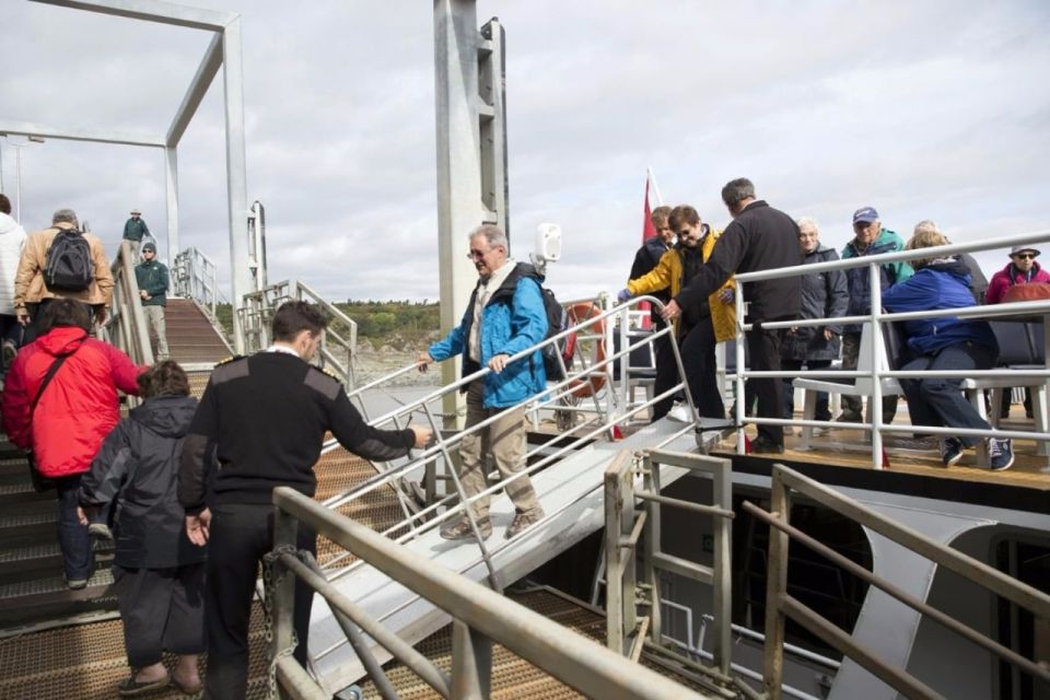
<svg viewBox="0 0 1050 700">
<path fill-rule="evenodd" d="M 712 503 L 661 495 L 660 469 L 664 465 L 710 477 Z M 641 489 L 635 488 L 639 476 Z M 711 675 L 722 682 L 732 680 L 732 488 L 733 467 L 725 458 L 654 450 L 637 455 L 623 452 L 609 464 L 605 471 L 606 643 L 609 649 L 634 656 L 646 640 L 662 643 L 660 572 L 673 572 L 712 586 L 715 667 L 707 670 L 713 670 Z M 637 501 L 641 502 L 641 509 Z M 661 505 L 713 517 L 713 567 L 662 550 Z M 644 572 L 641 584 L 637 581 L 639 569 Z M 638 616 L 640 606 L 649 609 L 648 616 Z"/>
</svg>

